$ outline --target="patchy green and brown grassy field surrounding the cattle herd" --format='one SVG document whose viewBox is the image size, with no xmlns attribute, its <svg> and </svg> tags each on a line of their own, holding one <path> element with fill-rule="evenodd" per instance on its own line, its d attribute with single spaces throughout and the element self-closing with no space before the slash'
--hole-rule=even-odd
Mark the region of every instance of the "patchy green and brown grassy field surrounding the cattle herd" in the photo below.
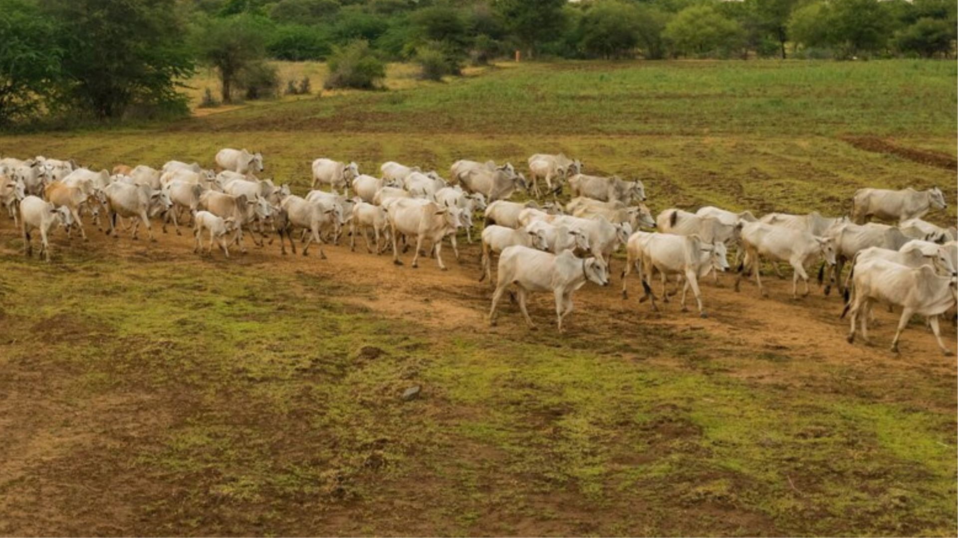
<svg viewBox="0 0 958 538">
<path fill-rule="evenodd" d="M 212 165 L 247 146 L 262 175 L 305 191 L 318 156 L 375 173 L 564 151 L 643 179 L 653 213 L 838 214 L 862 186 L 939 185 L 949 208 L 928 218 L 955 218 L 953 62 L 403 77 L 145 129 L 0 137 L 0 154 Z M 917 320 L 895 355 L 893 315 L 878 313 L 874 346 L 850 346 L 840 300 L 789 301 L 790 282 L 764 301 L 708 282 L 702 320 L 623 301 L 616 274 L 582 289 L 559 337 L 547 297 L 531 304 L 538 330 L 513 305 L 484 323 L 475 245 L 441 273 L 346 247 L 223 260 L 187 235 L 92 235 L 57 234 L 43 264 L 0 219 L 0 534 L 958 532 L 955 362 Z M 421 397 L 403 401 L 412 386 Z"/>
</svg>

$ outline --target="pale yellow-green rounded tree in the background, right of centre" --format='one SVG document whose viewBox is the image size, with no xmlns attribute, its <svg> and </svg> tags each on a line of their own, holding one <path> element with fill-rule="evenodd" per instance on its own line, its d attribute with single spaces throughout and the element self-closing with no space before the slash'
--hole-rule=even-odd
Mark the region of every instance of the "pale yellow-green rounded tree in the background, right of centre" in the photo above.
<svg viewBox="0 0 958 538">
<path fill-rule="evenodd" d="M 665 27 L 665 37 L 683 55 L 727 55 L 741 45 L 741 25 L 712 6 L 691 6 L 679 11 Z"/>
</svg>

